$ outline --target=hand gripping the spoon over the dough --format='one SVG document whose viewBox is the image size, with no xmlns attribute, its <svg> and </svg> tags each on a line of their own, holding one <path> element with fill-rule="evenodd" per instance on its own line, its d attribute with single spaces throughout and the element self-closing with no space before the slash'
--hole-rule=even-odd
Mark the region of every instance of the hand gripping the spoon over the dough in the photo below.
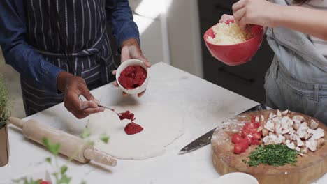
<svg viewBox="0 0 327 184">
<path fill-rule="evenodd" d="M 89 114 L 104 110 L 103 107 L 98 107 L 98 101 L 89 92 L 82 77 L 60 72 L 57 77 L 57 89 L 64 93 L 64 105 L 76 118 L 85 118 Z M 86 101 L 81 101 L 80 95 L 83 95 Z"/>
</svg>

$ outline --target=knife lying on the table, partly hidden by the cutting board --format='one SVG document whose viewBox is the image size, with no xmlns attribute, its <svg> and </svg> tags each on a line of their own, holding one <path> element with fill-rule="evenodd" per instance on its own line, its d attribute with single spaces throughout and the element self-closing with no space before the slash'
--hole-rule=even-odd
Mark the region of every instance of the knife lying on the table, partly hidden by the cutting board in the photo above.
<svg viewBox="0 0 327 184">
<path fill-rule="evenodd" d="M 240 114 L 244 114 L 246 112 L 255 112 L 255 111 L 259 111 L 259 110 L 266 110 L 266 109 L 267 109 L 266 105 L 260 104 L 260 105 L 254 106 L 250 109 L 247 109 L 245 112 L 241 112 Z M 240 114 L 238 114 L 238 115 L 240 115 Z M 203 146 L 210 144 L 212 134 L 215 132 L 216 129 L 217 128 L 210 130 L 209 132 L 205 133 L 205 135 L 202 135 L 201 137 L 198 137 L 198 139 L 195 139 L 194 141 L 192 141 L 190 144 L 187 144 L 187 146 L 182 148 L 178 154 L 182 155 L 184 153 L 189 153 L 191 151 L 194 151 L 198 148 L 202 148 Z"/>
</svg>

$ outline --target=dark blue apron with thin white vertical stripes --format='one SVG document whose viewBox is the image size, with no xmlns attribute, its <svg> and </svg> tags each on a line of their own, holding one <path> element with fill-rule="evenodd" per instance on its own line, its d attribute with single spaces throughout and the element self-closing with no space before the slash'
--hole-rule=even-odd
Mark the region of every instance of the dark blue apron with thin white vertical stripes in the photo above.
<svg viewBox="0 0 327 184">
<path fill-rule="evenodd" d="M 82 77 L 90 90 L 115 79 L 111 73 L 117 66 L 106 29 L 106 0 L 27 0 L 26 8 L 29 44 L 46 61 Z M 61 39 L 63 35 L 65 39 Z M 71 49 L 68 54 L 63 53 L 63 45 Z M 64 98 L 23 78 L 21 86 L 27 116 Z"/>
</svg>

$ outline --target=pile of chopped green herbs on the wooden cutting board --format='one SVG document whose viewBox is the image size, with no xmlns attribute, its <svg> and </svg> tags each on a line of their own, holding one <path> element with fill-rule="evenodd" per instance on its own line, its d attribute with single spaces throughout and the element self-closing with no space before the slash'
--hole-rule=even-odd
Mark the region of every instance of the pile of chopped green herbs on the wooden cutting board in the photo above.
<svg viewBox="0 0 327 184">
<path fill-rule="evenodd" d="M 274 167 L 285 164 L 296 165 L 298 153 L 295 150 L 281 144 L 270 144 L 268 146 L 258 146 L 255 151 L 249 154 L 249 161 L 243 159 L 250 167 L 259 164 L 272 165 Z"/>
</svg>

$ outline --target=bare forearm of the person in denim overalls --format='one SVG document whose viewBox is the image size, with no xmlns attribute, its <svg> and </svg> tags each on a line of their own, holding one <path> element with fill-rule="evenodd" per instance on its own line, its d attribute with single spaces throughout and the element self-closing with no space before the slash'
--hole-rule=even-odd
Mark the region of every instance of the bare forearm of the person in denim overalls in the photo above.
<svg viewBox="0 0 327 184">
<path fill-rule="evenodd" d="M 278 5 L 280 6 L 280 5 Z M 280 6 L 274 26 L 284 26 L 327 40 L 327 12 L 298 6 Z"/>
</svg>

